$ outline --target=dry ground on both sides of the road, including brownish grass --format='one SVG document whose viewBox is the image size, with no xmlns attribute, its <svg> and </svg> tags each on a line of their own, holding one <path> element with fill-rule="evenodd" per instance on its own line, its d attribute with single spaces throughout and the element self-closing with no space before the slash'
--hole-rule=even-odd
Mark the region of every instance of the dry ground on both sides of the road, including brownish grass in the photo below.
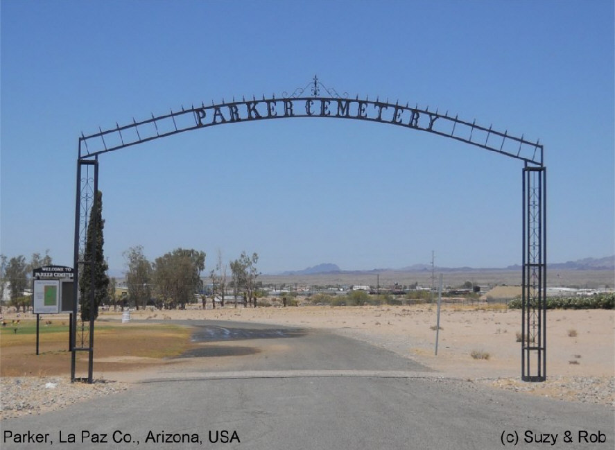
<svg viewBox="0 0 615 450">
<path fill-rule="evenodd" d="M 546 383 L 521 381 L 521 343 L 517 342 L 521 311 L 497 306 L 443 306 L 437 356 L 436 308 L 429 304 L 257 309 L 227 306 L 215 310 L 132 311 L 131 318 L 121 324 L 116 321 L 121 319 L 121 313 L 101 313 L 94 352 L 97 379 L 131 383 L 151 377 L 161 365 L 179 364 L 169 356 L 181 354 L 195 344 L 190 342 L 190 329 L 165 324 L 167 320 L 236 320 L 326 329 L 412 358 L 438 371 L 436 376 L 566 401 L 609 405 L 615 401 L 615 311 L 547 312 Z M 145 322 L 136 322 L 137 319 Z M 10 316 L 6 320 L 10 322 Z M 53 320 L 67 318 L 54 315 Z M 18 336 L 19 331 L 15 336 L 3 334 L 0 342 L 3 410 L 7 392 L 16 389 L 13 381 L 17 379 L 12 377 L 55 376 L 65 382 L 70 370 L 67 334 L 53 339 L 42 334 L 38 356 L 33 336 L 29 341 L 19 340 Z M 473 353 L 485 358 L 473 358 Z M 85 357 L 80 355 L 78 372 L 85 370 Z M 221 358 L 234 357 L 241 358 Z"/>
</svg>

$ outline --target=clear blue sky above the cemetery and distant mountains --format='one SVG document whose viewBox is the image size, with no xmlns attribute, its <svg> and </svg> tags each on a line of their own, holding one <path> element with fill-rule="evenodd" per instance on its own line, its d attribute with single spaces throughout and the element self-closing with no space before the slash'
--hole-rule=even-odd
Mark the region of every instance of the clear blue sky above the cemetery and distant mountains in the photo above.
<svg viewBox="0 0 615 450">
<path fill-rule="evenodd" d="M 16 1 L 1 19 L 1 252 L 72 266 L 78 137 L 315 74 L 545 146 L 548 260 L 614 253 L 612 1 Z M 522 163 L 419 130 L 284 119 L 100 158 L 105 257 L 263 272 L 521 263 Z"/>
</svg>

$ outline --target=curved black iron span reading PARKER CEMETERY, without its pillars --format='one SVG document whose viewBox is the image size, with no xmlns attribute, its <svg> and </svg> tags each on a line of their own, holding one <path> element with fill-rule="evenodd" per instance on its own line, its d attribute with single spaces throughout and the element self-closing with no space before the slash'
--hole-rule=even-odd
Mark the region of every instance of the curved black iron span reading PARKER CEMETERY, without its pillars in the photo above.
<svg viewBox="0 0 615 450">
<path fill-rule="evenodd" d="M 320 84 L 320 83 L 318 83 Z M 317 85 L 318 86 L 318 85 Z M 234 98 L 230 102 L 211 102 L 211 105 L 182 106 L 181 110 L 171 110 L 168 114 L 154 116 L 141 121 L 132 120 L 124 126 L 116 123 L 109 128 L 79 138 L 79 159 L 92 159 L 103 153 L 121 148 L 143 144 L 162 137 L 177 135 L 181 132 L 248 121 L 291 119 L 295 117 L 318 117 L 331 119 L 352 119 L 431 132 L 435 135 L 449 137 L 457 141 L 485 148 L 508 157 L 521 159 L 530 165 L 543 165 L 543 146 L 539 141 L 532 142 L 523 136 L 515 137 L 504 132 L 480 126 L 474 121 L 464 121 L 448 112 L 442 114 L 429 107 L 411 107 L 408 103 L 400 105 L 399 101 L 390 103 L 388 98 L 381 101 L 376 97 L 348 98 L 348 96 L 320 96 L 320 89 L 312 88 L 312 96 L 304 96 L 304 89 L 295 90 L 293 95 L 286 92 L 281 98 L 275 95 L 262 96 L 257 99 L 241 101 Z M 337 94 L 337 93 L 336 93 Z"/>
</svg>

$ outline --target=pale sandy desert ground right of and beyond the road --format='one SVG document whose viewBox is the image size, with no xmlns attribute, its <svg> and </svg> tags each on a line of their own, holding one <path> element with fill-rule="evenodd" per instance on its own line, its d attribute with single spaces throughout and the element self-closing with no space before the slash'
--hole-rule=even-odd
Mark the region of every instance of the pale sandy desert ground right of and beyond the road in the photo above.
<svg viewBox="0 0 615 450">
<path fill-rule="evenodd" d="M 389 349 L 431 367 L 429 376 L 481 383 L 531 395 L 614 406 L 615 311 L 547 311 L 547 381 L 521 381 L 521 311 L 503 305 L 442 306 L 438 355 L 435 355 L 437 308 L 413 306 L 288 306 L 256 309 L 232 305 L 209 309 L 131 311 L 125 327 L 175 319 L 208 319 L 279 324 L 323 329 Z M 101 320 L 120 320 L 121 312 L 105 311 Z M 480 352 L 488 356 L 476 359 Z M 232 356 L 231 356 L 232 357 Z M 241 357 L 241 356 L 239 356 Z M 130 372 L 101 372 L 95 377 L 134 382 L 155 374 L 155 365 Z M 382 369 L 386 369 L 382 367 Z M 6 382 L 6 380 L 3 380 Z"/>
</svg>

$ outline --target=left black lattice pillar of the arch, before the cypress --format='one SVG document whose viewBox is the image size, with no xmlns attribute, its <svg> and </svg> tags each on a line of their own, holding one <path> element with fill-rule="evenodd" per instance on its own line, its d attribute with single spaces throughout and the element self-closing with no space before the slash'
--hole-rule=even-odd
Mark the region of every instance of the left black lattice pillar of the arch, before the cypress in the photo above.
<svg viewBox="0 0 615 450">
<path fill-rule="evenodd" d="M 80 156 L 80 155 L 79 155 Z M 90 211 L 96 211 L 96 202 L 98 202 L 98 158 L 82 159 L 79 157 L 77 161 L 77 187 L 75 201 L 75 240 L 73 254 L 73 298 L 75 304 L 73 306 L 73 314 L 71 318 L 71 382 L 87 381 L 92 383 L 93 361 L 94 361 L 94 314 L 87 325 L 78 313 L 78 304 L 80 304 L 80 289 L 79 279 L 80 272 L 83 270 L 84 264 L 90 264 L 92 267 L 91 273 L 94 274 L 94 263 L 96 261 L 96 239 L 91 243 L 91 257 L 85 261 L 85 245 L 87 243 L 87 228 L 94 227 L 96 223 L 88 223 Z M 96 216 L 94 215 L 94 221 Z M 89 284 L 89 292 L 84 293 L 85 297 L 89 298 L 90 311 L 94 311 L 94 283 Z M 87 352 L 87 378 L 76 377 L 76 354 L 77 352 Z"/>
</svg>

